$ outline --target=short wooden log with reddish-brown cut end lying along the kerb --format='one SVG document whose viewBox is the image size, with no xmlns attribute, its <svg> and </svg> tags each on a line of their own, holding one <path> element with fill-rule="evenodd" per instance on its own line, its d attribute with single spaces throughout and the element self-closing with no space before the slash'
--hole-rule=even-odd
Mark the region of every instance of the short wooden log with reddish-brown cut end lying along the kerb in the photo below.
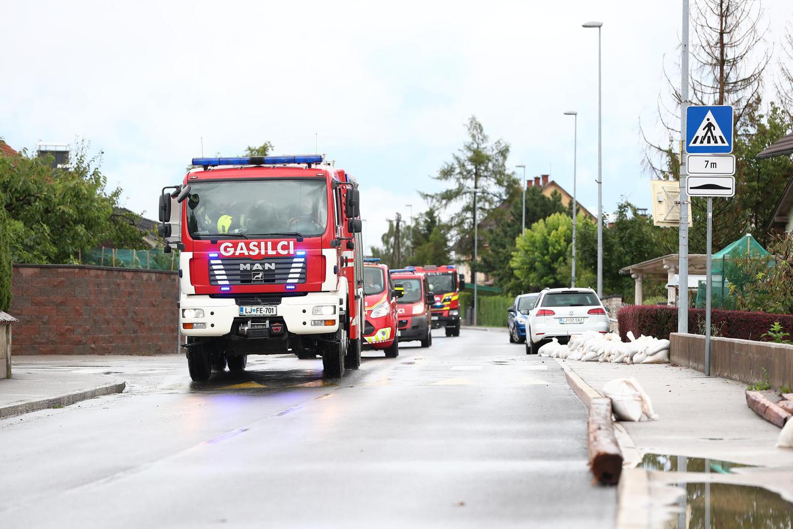
<svg viewBox="0 0 793 529">
<path fill-rule="evenodd" d="M 604 485 L 616 485 L 623 471 L 623 453 L 611 423 L 611 399 L 598 397 L 589 404 L 589 468 Z"/>
</svg>

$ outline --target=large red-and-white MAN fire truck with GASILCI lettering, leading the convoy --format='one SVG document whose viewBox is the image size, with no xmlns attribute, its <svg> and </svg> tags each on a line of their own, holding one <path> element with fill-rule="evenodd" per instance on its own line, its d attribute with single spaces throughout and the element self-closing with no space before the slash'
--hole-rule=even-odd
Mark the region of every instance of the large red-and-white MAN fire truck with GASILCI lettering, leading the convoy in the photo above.
<svg viewBox="0 0 793 529">
<path fill-rule="evenodd" d="M 193 381 L 247 355 L 361 363 L 358 184 L 324 155 L 197 158 L 163 188 L 160 235 L 179 254 L 179 330 Z M 170 190 L 170 191 L 169 191 Z"/>
</svg>

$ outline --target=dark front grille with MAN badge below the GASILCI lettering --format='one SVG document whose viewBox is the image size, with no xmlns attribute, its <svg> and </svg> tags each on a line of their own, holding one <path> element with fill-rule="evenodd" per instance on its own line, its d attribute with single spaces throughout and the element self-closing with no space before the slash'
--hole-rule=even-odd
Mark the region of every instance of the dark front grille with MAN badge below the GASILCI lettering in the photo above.
<svg viewBox="0 0 793 529">
<path fill-rule="evenodd" d="M 305 283 L 305 256 L 266 259 L 209 259 L 210 285 Z"/>
</svg>

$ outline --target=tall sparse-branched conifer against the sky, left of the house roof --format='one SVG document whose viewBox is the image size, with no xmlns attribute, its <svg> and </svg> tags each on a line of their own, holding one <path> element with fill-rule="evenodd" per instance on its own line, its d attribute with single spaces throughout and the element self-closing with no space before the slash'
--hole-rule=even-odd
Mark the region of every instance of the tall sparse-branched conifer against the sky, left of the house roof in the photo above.
<svg viewBox="0 0 793 529">
<path fill-rule="evenodd" d="M 502 204 L 517 186 L 515 175 L 507 169 L 509 144 L 502 140 L 490 143 L 485 128 L 470 117 L 467 125 L 469 141 L 444 163 L 433 178 L 450 183 L 440 193 L 422 193 L 431 205 L 445 213 L 452 210 L 448 229 L 458 255 L 473 255 L 473 225 L 477 213 L 486 217 L 490 210 Z M 476 189 L 477 193 L 472 191 Z M 476 263 L 472 263 L 476 269 Z"/>
</svg>

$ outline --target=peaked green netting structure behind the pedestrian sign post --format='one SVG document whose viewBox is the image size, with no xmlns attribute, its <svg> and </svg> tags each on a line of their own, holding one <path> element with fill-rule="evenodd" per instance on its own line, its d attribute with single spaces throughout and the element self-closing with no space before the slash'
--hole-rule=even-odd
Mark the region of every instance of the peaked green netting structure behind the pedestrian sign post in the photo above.
<svg viewBox="0 0 793 529">
<path fill-rule="evenodd" d="M 753 279 L 742 270 L 741 263 L 749 257 L 763 258 L 768 255 L 771 254 L 749 234 L 714 253 L 711 256 L 711 308 L 736 309 L 734 299 L 730 296 L 730 288 L 741 290 Z M 773 266 L 773 264 L 772 259 L 769 259 L 768 265 Z M 706 282 L 700 281 L 696 293 L 697 309 L 705 308 L 706 296 Z"/>
</svg>

